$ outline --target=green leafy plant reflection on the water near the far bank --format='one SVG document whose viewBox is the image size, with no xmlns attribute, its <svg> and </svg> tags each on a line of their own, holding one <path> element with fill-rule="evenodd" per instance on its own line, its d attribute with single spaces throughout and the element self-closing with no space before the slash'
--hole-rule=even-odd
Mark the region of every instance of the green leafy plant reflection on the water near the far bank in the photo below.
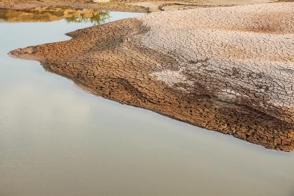
<svg viewBox="0 0 294 196">
<path fill-rule="evenodd" d="M 78 17 L 70 17 L 66 18 L 65 21 L 69 23 L 86 23 L 86 22 L 91 22 L 94 25 L 101 25 L 102 23 L 105 23 L 105 20 L 109 19 L 109 12 L 108 11 L 99 11 L 98 14 L 92 16 L 92 17 L 83 17 L 83 16 L 78 16 Z"/>
</svg>

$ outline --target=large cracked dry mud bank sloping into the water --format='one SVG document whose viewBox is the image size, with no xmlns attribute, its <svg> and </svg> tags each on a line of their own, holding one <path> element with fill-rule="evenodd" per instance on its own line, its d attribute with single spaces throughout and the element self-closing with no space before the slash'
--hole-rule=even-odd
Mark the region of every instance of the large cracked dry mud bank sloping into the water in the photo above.
<svg viewBox="0 0 294 196">
<path fill-rule="evenodd" d="M 93 94 L 294 150 L 294 4 L 151 13 L 16 49 Z"/>
</svg>

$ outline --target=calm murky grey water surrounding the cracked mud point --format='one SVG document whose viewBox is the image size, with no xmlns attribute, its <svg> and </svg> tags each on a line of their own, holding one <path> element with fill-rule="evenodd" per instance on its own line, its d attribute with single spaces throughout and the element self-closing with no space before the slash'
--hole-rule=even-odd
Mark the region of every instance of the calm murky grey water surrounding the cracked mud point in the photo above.
<svg viewBox="0 0 294 196">
<path fill-rule="evenodd" d="M 294 195 L 294 153 L 89 95 L 38 62 L 10 58 L 12 49 L 140 15 L 48 9 L 13 20 L 0 10 L 0 196 Z"/>
</svg>

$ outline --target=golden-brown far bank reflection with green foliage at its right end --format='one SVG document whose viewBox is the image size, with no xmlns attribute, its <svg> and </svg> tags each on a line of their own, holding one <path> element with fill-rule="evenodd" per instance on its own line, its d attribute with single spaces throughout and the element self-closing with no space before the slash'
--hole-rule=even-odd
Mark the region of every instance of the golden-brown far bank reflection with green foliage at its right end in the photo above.
<svg viewBox="0 0 294 196">
<path fill-rule="evenodd" d="M 67 23 L 105 23 L 108 11 L 79 9 L 74 7 L 48 6 L 33 9 L 0 9 L 0 21 L 10 23 L 53 22 L 65 19 Z"/>
</svg>

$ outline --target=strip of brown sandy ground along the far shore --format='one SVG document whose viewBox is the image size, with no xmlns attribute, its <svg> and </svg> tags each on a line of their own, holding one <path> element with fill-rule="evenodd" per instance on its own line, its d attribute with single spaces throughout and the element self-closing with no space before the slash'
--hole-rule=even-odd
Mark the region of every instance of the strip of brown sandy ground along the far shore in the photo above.
<svg viewBox="0 0 294 196">
<path fill-rule="evenodd" d="M 95 3 L 101 2 L 101 3 Z M 108 2 L 107 2 L 108 1 Z M 96 10 L 157 12 L 197 7 L 233 6 L 270 3 L 279 0 L 0 0 L 0 8 L 31 8 L 40 6 L 74 6 Z M 291 1 L 291 0 L 283 0 Z"/>
</svg>

